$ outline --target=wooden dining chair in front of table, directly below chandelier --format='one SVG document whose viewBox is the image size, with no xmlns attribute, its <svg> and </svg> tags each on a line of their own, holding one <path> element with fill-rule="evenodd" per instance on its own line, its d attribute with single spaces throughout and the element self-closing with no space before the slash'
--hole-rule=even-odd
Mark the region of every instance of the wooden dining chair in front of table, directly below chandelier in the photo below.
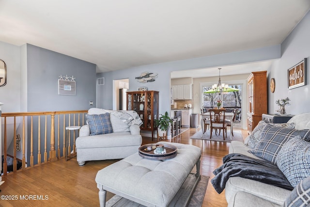
<svg viewBox="0 0 310 207">
<path fill-rule="evenodd" d="M 223 139 L 225 140 L 225 134 L 227 137 L 227 123 L 225 122 L 225 109 L 210 109 L 210 139 L 212 137 L 213 129 L 219 129 L 218 135 L 223 129 Z M 216 131 L 217 134 L 217 131 Z"/>
</svg>

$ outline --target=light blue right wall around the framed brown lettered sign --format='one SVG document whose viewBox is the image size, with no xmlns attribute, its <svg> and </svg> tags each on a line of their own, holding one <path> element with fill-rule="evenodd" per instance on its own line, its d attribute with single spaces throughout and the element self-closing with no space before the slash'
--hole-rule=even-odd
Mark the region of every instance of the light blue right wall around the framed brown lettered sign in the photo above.
<svg viewBox="0 0 310 207">
<path fill-rule="evenodd" d="M 279 106 L 275 104 L 278 99 L 289 97 L 291 105 L 286 106 L 286 113 L 298 114 L 310 112 L 310 12 L 299 22 L 290 35 L 281 44 L 281 59 L 273 64 L 268 74 L 268 85 L 271 78 L 276 80 L 275 93 L 268 94 L 268 113 L 275 113 Z M 287 70 L 298 64 L 304 58 L 307 64 L 307 85 L 287 89 Z"/>
</svg>

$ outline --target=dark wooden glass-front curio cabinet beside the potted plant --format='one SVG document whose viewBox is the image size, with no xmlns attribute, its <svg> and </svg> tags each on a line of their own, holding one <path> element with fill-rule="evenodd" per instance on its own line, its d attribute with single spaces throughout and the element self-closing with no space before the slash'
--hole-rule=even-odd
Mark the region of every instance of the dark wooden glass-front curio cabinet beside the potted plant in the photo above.
<svg viewBox="0 0 310 207">
<path fill-rule="evenodd" d="M 141 130 L 152 131 L 154 135 L 154 119 L 158 119 L 158 91 L 131 91 L 127 93 L 127 110 L 136 111 L 143 124 Z"/>
</svg>

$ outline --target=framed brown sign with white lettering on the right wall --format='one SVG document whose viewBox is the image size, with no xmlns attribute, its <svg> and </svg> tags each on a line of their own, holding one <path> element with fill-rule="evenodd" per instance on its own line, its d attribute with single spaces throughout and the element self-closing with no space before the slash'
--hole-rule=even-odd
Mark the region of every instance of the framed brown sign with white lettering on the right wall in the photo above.
<svg viewBox="0 0 310 207">
<path fill-rule="evenodd" d="M 307 58 L 300 63 L 294 65 L 287 71 L 287 87 L 288 89 L 296 88 L 307 84 L 306 73 Z"/>
</svg>

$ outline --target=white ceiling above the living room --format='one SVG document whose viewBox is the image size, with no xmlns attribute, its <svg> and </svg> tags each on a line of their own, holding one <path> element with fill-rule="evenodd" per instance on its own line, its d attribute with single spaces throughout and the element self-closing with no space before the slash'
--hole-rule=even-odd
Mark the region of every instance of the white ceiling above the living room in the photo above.
<svg viewBox="0 0 310 207">
<path fill-rule="evenodd" d="M 0 0 L 0 41 L 106 72 L 278 45 L 309 9 L 310 0 Z"/>
</svg>

